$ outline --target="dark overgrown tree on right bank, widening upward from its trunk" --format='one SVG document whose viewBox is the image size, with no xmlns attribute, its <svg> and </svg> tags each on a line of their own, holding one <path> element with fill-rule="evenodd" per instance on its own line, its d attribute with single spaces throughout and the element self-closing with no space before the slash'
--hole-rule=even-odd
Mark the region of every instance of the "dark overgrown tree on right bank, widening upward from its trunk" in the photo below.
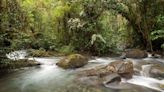
<svg viewBox="0 0 164 92">
<path fill-rule="evenodd" d="M 152 51 L 150 33 L 156 24 L 156 16 L 163 11 L 162 0 L 109 0 L 106 7 L 122 15 L 129 22 L 140 40 L 134 43 L 141 44 L 145 49 Z"/>
</svg>

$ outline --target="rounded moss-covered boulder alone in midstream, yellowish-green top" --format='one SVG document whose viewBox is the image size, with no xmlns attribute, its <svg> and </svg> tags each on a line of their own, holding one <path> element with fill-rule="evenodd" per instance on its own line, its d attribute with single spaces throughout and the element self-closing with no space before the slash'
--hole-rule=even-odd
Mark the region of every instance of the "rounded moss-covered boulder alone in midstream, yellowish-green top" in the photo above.
<svg viewBox="0 0 164 92">
<path fill-rule="evenodd" d="M 64 68 L 79 68 L 88 63 L 88 59 L 80 54 L 72 54 L 67 56 L 66 58 L 60 60 L 56 65 Z"/>
</svg>

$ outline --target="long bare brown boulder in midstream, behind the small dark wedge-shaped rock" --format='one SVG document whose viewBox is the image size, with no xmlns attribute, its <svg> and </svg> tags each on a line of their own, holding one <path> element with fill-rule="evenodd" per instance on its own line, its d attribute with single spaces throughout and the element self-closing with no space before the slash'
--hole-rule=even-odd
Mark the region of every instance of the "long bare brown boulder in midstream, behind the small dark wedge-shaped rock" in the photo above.
<svg viewBox="0 0 164 92">
<path fill-rule="evenodd" d="M 133 63 L 131 61 L 114 61 L 106 66 L 85 70 L 83 73 L 86 76 L 99 76 L 101 78 L 117 73 L 121 77 L 131 78 L 133 75 Z"/>
</svg>

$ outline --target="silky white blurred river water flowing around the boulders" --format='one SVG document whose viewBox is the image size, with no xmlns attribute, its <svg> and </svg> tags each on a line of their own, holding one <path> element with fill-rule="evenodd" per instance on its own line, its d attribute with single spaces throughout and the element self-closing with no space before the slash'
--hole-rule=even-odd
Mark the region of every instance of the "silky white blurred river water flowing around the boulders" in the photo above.
<svg viewBox="0 0 164 92">
<path fill-rule="evenodd" d="M 76 80 L 76 74 L 79 71 L 108 64 L 116 58 L 95 58 L 90 60 L 88 65 L 75 70 L 64 70 L 56 66 L 55 63 L 61 58 L 30 58 L 42 65 L 27 67 L 0 76 L 0 92 L 164 92 L 159 87 L 159 85 L 164 85 L 164 80 L 148 77 L 146 72 L 134 75 L 132 79 L 125 80 L 122 84 L 113 87 L 90 85 L 89 81 Z M 147 59 L 152 60 L 151 58 Z M 137 62 L 138 60 L 133 59 L 133 61 Z M 158 61 L 164 63 L 162 59 Z M 143 68 L 145 67 L 143 66 Z"/>
</svg>

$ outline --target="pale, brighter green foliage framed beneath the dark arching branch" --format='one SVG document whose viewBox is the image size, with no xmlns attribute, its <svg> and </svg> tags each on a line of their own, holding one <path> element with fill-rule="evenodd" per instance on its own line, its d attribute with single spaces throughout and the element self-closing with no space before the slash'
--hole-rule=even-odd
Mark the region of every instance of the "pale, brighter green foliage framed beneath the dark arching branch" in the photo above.
<svg viewBox="0 0 164 92">
<path fill-rule="evenodd" d="M 119 21 L 119 22 L 118 22 Z M 123 50 L 131 43 L 131 30 L 127 29 L 127 21 L 121 15 L 115 16 L 105 12 L 100 19 L 102 36 L 111 49 Z"/>
</svg>

